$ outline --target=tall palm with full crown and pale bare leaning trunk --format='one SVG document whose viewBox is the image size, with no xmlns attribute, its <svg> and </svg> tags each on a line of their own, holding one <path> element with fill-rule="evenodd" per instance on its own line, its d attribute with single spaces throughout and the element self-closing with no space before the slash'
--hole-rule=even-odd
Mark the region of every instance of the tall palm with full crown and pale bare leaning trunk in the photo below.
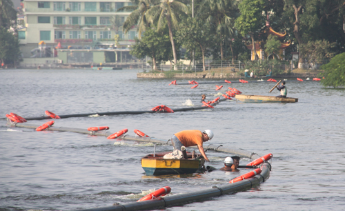
<svg viewBox="0 0 345 211">
<path fill-rule="evenodd" d="M 152 6 L 146 12 L 146 18 L 150 23 L 157 26 L 158 32 L 163 30 L 164 26 L 168 24 L 172 55 L 174 57 L 174 70 L 177 70 L 177 55 L 172 30 L 177 30 L 179 27 L 179 15 L 186 14 L 187 12 L 188 8 L 184 3 L 174 0 L 162 0 L 159 5 Z"/>
</svg>

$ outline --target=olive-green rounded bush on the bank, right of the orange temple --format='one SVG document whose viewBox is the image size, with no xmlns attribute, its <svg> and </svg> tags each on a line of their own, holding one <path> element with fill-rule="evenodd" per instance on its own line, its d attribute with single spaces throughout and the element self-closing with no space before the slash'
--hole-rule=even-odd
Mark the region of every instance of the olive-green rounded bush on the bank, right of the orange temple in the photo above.
<svg viewBox="0 0 345 211">
<path fill-rule="evenodd" d="M 308 43 L 302 44 L 299 50 L 304 54 L 304 58 L 308 59 L 311 63 L 322 63 L 324 59 L 331 59 L 334 56 L 334 52 L 331 48 L 335 47 L 335 43 L 330 43 L 326 40 L 308 41 Z"/>
</svg>

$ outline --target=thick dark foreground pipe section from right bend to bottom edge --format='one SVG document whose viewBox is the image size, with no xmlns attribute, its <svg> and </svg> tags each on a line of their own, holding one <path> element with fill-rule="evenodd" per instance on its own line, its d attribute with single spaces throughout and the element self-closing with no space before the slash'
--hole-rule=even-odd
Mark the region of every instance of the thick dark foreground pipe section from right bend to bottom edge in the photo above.
<svg viewBox="0 0 345 211">
<path fill-rule="evenodd" d="M 164 197 L 163 199 L 153 199 L 148 201 L 139 201 L 126 204 L 117 204 L 114 206 L 108 206 L 103 208 L 86 209 L 79 211 L 131 211 L 131 210 L 152 210 L 174 205 L 183 205 L 189 202 L 206 201 L 213 197 L 219 197 L 223 194 L 233 194 L 234 192 L 248 190 L 253 188 L 259 183 L 262 183 L 268 179 L 270 174 L 270 165 L 264 163 L 262 165 L 262 173 L 252 177 L 250 179 L 244 179 L 237 183 L 228 183 L 221 186 L 213 186 L 205 190 L 199 190 L 196 192 L 188 192 L 184 194 L 175 194 L 172 196 Z"/>
</svg>

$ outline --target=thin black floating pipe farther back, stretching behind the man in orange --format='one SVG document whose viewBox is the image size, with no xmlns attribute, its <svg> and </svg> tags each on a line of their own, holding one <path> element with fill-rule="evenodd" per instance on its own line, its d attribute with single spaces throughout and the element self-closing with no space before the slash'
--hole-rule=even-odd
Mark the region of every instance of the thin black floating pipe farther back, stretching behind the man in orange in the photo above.
<svg viewBox="0 0 345 211">
<path fill-rule="evenodd" d="M 226 99 L 219 99 L 219 101 L 226 101 Z M 215 106 L 217 103 L 211 103 L 211 106 Z M 205 106 L 198 106 L 198 107 L 188 107 L 188 108 L 175 108 L 174 112 L 183 112 L 188 110 L 202 110 L 206 109 Z M 86 114 L 66 114 L 66 115 L 59 115 L 61 119 L 71 118 L 71 117 L 89 117 L 92 115 L 99 115 L 99 116 L 112 116 L 112 115 L 121 115 L 121 114 L 145 114 L 145 113 L 156 113 L 153 110 L 139 110 L 139 111 L 120 111 L 120 112 L 96 112 L 96 113 L 86 113 Z M 51 119 L 48 116 L 41 116 L 41 117 L 25 117 L 26 120 L 42 120 L 42 119 Z"/>
</svg>

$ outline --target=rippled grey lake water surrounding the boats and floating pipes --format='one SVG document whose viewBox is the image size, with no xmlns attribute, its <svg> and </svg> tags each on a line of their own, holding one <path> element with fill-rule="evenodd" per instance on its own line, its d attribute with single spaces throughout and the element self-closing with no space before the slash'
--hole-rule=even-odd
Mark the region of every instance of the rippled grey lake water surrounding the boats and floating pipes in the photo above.
<svg viewBox="0 0 345 211">
<path fill-rule="evenodd" d="M 201 94 L 215 99 L 228 86 L 243 94 L 279 94 L 268 94 L 275 83 L 219 83 L 224 85 L 220 91 L 212 83 L 190 89 L 168 86 L 172 79 L 137 79 L 138 71 L 0 71 L 0 210 L 78 210 L 130 203 L 165 185 L 172 194 L 193 192 L 226 184 L 246 172 L 148 177 L 140 159 L 153 152 L 151 143 L 6 125 L 10 112 L 39 117 L 45 110 L 62 115 L 150 110 L 161 104 L 173 110 L 188 100 L 201 106 Z M 287 81 L 286 86 L 288 97 L 298 98 L 298 103 L 224 101 L 212 110 L 57 119 L 55 126 L 109 126 L 110 132 L 128 128 L 131 135 L 138 129 L 159 139 L 170 139 L 180 130 L 211 129 L 212 144 L 273 154 L 270 179 L 257 188 L 165 210 L 344 210 L 345 90 L 326 89 L 315 81 Z M 157 152 L 171 149 L 156 147 Z M 207 165 L 215 168 L 221 168 L 227 156 L 206 154 Z M 242 159 L 240 165 L 248 162 Z"/>
</svg>

